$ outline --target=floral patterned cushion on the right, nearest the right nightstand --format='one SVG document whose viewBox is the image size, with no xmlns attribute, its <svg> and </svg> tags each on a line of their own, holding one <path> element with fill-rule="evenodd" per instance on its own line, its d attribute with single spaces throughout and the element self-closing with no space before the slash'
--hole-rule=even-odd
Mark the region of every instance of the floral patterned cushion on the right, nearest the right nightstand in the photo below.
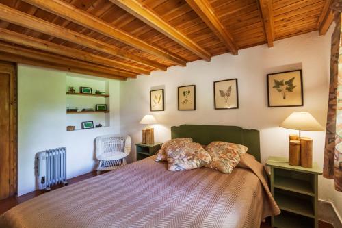
<svg viewBox="0 0 342 228">
<path fill-rule="evenodd" d="M 222 173 L 232 173 L 248 148 L 230 142 L 211 142 L 206 147 L 206 150 L 212 158 L 212 162 L 207 164 L 206 167 Z"/>
</svg>

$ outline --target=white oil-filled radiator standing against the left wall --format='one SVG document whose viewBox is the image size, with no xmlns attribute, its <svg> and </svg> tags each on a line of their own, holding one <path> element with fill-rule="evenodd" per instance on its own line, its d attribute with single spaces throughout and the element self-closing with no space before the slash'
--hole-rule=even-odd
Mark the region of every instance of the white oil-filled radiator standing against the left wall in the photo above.
<svg viewBox="0 0 342 228">
<path fill-rule="evenodd" d="M 66 181 L 66 148 L 61 147 L 36 154 L 36 182 L 39 189 L 50 190 L 52 186 Z"/>
</svg>

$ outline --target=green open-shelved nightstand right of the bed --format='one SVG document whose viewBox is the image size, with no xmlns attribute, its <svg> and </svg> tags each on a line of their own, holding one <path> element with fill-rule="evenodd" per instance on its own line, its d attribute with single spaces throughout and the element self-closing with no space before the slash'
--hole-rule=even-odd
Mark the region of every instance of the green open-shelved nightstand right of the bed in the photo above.
<svg viewBox="0 0 342 228">
<path fill-rule="evenodd" d="M 271 192 L 281 214 L 272 216 L 272 227 L 318 227 L 318 175 L 317 163 L 313 168 L 290 166 L 285 157 L 269 157 Z"/>
</svg>

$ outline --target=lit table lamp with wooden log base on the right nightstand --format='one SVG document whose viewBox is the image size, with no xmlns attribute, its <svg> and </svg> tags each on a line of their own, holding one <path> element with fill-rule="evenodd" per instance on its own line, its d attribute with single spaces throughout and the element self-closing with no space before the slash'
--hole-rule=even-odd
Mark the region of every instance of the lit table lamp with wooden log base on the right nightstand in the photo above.
<svg viewBox="0 0 342 228">
<path fill-rule="evenodd" d="M 308 112 L 292 112 L 279 127 L 295 129 L 299 136 L 289 135 L 289 164 L 305 168 L 313 166 L 313 140 L 308 137 L 301 137 L 300 131 L 324 131 L 324 128 Z"/>
</svg>

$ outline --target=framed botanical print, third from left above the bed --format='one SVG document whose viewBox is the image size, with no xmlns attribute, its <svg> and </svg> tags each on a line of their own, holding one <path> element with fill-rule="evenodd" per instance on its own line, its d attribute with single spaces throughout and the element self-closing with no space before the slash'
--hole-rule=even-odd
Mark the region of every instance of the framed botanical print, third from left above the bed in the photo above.
<svg viewBox="0 0 342 228">
<path fill-rule="evenodd" d="M 215 110 L 239 108 L 237 79 L 214 81 L 213 89 Z"/>
</svg>

